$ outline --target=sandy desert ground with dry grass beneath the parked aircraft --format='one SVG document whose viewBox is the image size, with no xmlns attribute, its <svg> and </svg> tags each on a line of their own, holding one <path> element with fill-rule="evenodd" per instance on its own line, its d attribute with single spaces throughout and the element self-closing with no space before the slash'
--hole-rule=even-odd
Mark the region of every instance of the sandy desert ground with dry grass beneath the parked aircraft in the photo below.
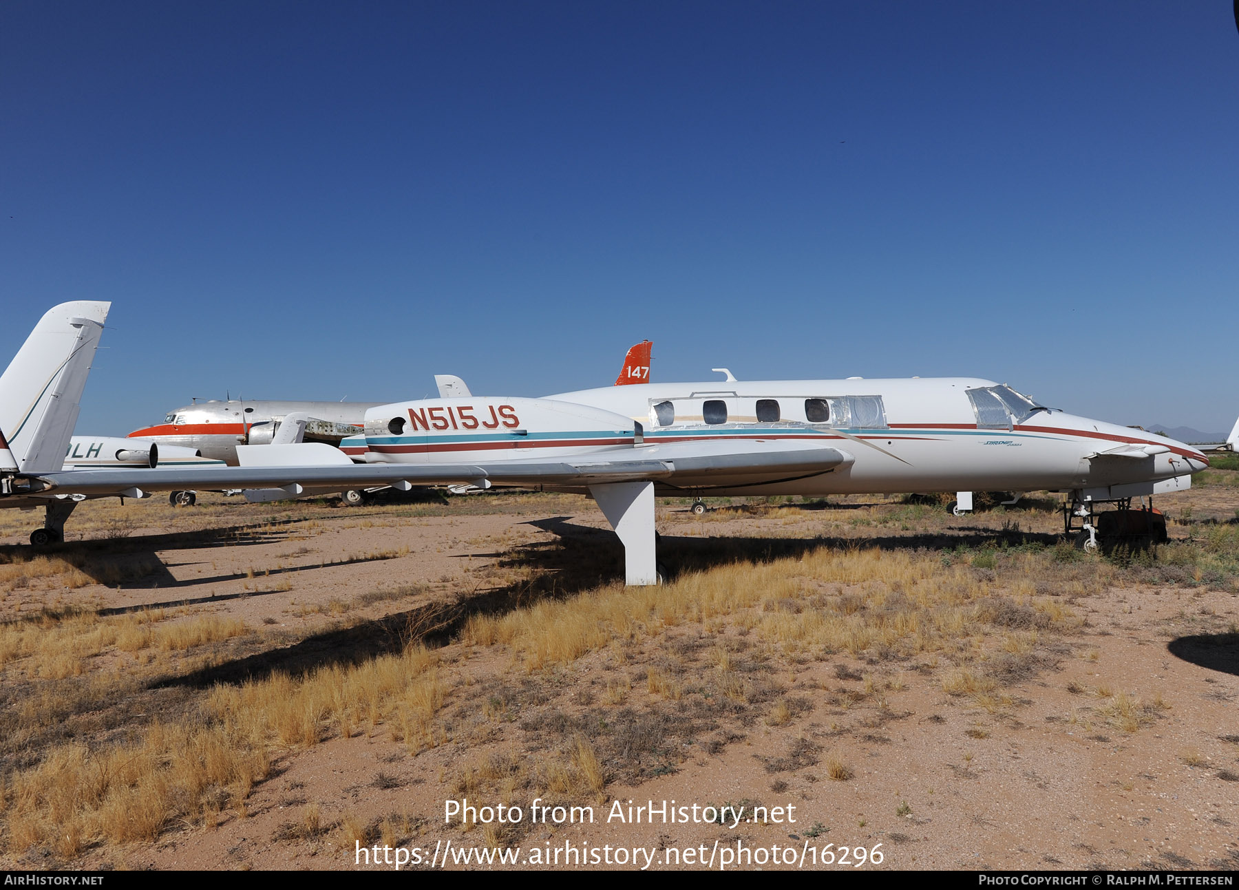
<svg viewBox="0 0 1239 890">
<path fill-rule="evenodd" d="M 1149 552 L 1074 549 L 1044 493 L 688 506 L 646 589 L 570 495 L 93 501 L 38 554 L 0 512 L 0 868 L 1239 868 L 1239 466 Z M 741 817 L 607 819 L 650 801 Z"/>
</svg>

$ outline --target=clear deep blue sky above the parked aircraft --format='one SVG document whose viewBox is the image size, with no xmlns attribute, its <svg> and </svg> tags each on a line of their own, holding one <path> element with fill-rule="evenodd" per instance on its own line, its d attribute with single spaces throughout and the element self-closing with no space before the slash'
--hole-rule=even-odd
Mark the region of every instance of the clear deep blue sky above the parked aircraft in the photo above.
<svg viewBox="0 0 1239 890">
<path fill-rule="evenodd" d="M 1239 414 L 1232 4 L 0 6 L 0 355 L 191 397 L 966 374 Z"/>
</svg>

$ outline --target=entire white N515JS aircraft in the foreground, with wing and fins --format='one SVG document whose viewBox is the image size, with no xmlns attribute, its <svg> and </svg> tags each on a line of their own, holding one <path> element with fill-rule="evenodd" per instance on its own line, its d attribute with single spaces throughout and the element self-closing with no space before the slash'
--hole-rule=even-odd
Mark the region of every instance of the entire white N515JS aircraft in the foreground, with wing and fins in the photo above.
<svg viewBox="0 0 1239 890">
<path fill-rule="evenodd" d="M 56 341 L 56 355 L 41 357 L 38 373 L 26 364 L 5 372 L 0 430 L 17 435 L 11 452 L 0 449 L 0 497 L 450 483 L 581 492 L 623 543 L 627 583 L 646 585 L 659 580 L 655 495 L 1048 488 L 1069 493 L 1095 547 L 1094 504 L 1141 513 L 1127 509 L 1132 497 L 1183 490 L 1208 466 L 1182 443 L 1049 409 L 992 381 L 740 382 L 721 369 L 722 382 L 374 407 L 364 418 L 364 465 L 323 443 L 302 443 L 239 446 L 239 467 L 66 471 L 61 456 L 89 371 L 83 355 L 93 353 L 102 327 L 90 307 L 105 305 L 56 307 L 43 319 L 55 316 L 56 337 L 43 340 L 48 348 Z M 26 347 L 14 364 L 25 355 Z M 28 408 L 14 412 L 10 403 Z"/>
</svg>

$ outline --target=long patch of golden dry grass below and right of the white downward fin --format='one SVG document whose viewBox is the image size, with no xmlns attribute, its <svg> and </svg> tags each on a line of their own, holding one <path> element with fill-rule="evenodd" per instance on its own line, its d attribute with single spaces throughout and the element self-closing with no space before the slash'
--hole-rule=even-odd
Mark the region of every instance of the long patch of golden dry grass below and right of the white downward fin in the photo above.
<svg viewBox="0 0 1239 890">
<path fill-rule="evenodd" d="M 528 671 L 538 671 L 571 663 L 615 640 L 729 617 L 788 654 L 855 656 L 875 646 L 914 653 L 981 635 L 1006 607 L 995 604 L 994 593 L 995 585 L 966 565 L 944 566 L 907 552 L 823 548 L 800 559 L 695 573 L 658 588 L 611 585 L 564 602 L 473 617 L 463 640 L 475 646 L 508 645 Z M 1025 600 L 1014 607 L 1022 609 L 1030 623 L 1037 615 L 1049 623 L 1070 615 L 1058 604 Z M 1011 651 L 1027 653 L 1037 637 L 1026 632 L 1010 640 Z"/>
</svg>

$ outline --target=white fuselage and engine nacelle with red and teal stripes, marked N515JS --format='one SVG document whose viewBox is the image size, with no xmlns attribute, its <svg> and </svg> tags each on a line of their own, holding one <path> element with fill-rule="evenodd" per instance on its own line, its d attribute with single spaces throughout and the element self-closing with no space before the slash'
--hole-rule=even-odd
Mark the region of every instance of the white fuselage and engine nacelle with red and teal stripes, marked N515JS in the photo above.
<svg viewBox="0 0 1239 890">
<path fill-rule="evenodd" d="M 524 414 L 540 402 L 560 407 L 550 425 Z M 388 429 L 393 418 L 404 420 L 399 434 Z M 653 451 L 673 443 L 793 440 L 852 459 L 774 481 L 720 476 L 691 488 L 663 481 L 659 495 L 1051 490 L 1105 501 L 1187 487 L 1189 475 L 1208 466 L 1183 443 L 1049 410 L 978 378 L 650 383 L 549 402 L 421 399 L 367 412 L 364 443 L 369 462 L 426 464 L 554 459 L 615 447 L 624 436 Z"/>
</svg>

